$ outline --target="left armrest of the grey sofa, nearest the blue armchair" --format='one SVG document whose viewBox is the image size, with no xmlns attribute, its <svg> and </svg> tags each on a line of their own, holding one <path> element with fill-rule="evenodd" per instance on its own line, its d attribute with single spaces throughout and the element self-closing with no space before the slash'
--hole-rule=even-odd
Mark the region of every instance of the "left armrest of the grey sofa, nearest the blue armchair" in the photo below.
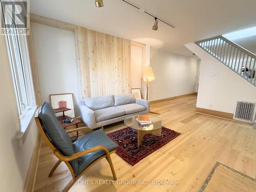
<svg viewBox="0 0 256 192">
<path fill-rule="evenodd" d="M 86 105 L 80 105 L 80 114 L 84 123 L 91 129 L 95 128 L 96 119 L 94 111 L 88 108 Z"/>
</svg>

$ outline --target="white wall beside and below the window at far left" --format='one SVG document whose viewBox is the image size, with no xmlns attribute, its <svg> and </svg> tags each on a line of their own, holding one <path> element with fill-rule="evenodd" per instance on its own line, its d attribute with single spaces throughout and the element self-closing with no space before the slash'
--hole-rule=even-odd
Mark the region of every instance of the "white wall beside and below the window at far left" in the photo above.
<svg viewBox="0 0 256 192">
<path fill-rule="evenodd" d="M 16 139 L 20 129 L 17 104 L 3 35 L 0 35 L 0 55 L 0 190 L 18 192 L 23 191 L 37 131 L 33 120 L 24 146 L 19 146 Z"/>
</svg>

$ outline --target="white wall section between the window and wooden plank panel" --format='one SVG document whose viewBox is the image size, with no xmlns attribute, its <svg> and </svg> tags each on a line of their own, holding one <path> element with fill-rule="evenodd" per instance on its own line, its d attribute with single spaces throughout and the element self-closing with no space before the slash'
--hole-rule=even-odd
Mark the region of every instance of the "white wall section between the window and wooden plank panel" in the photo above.
<svg viewBox="0 0 256 192">
<path fill-rule="evenodd" d="M 79 115 L 79 87 L 74 32 L 31 23 L 42 102 L 49 95 L 73 93 Z"/>
</svg>

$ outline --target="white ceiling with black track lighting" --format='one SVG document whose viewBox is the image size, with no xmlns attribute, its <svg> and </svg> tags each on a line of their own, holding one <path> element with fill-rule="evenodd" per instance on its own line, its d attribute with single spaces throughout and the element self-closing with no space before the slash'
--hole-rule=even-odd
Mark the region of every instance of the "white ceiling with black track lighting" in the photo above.
<svg viewBox="0 0 256 192">
<path fill-rule="evenodd" d="M 255 0 L 130 0 L 173 24 L 159 22 L 121 0 L 31 0 L 31 13 L 99 32 L 132 39 L 155 48 L 191 56 L 185 44 L 256 26 Z"/>
</svg>

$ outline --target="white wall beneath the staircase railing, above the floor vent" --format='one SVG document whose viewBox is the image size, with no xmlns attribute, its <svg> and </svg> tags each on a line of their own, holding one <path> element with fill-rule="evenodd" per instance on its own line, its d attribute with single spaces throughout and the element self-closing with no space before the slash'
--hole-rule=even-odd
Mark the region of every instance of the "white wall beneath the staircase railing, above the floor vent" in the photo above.
<svg viewBox="0 0 256 192">
<path fill-rule="evenodd" d="M 185 45 L 201 58 L 197 107 L 233 113 L 236 100 L 256 101 L 256 88 L 194 43 Z"/>
</svg>

